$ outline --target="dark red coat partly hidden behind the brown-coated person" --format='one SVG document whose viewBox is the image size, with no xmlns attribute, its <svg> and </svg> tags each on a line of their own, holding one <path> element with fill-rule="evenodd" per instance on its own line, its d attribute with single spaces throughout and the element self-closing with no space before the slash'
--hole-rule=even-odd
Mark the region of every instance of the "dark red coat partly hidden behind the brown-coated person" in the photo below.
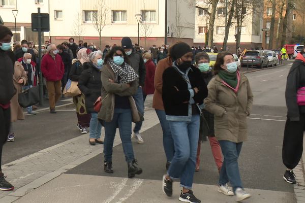
<svg viewBox="0 0 305 203">
<path fill-rule="evenodd" d="M 144 85 L 144 93 L 145 94 L 154 94 L 155 92 L 155 72 L 156 72 L 156 65 L 150 59 L 145 63 L 146 67 L 146 77 L 145 77 L 145 85 Z"/>
</svg>

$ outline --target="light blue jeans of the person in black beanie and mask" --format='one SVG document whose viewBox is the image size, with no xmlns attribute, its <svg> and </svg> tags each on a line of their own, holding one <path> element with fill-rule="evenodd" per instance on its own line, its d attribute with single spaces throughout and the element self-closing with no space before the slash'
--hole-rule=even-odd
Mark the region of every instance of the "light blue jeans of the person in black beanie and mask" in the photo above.
<svg viewBox="0 0 305 203">
<path fill-rule="evenodd" d="M 169 121 L 174 140 L 175 154 L 167 174 L 172 179 L 180 178 L 180 186 L 191 189 L 196 166 L 199 139 L 199 114 L 191 121 Z"/>
</svg>

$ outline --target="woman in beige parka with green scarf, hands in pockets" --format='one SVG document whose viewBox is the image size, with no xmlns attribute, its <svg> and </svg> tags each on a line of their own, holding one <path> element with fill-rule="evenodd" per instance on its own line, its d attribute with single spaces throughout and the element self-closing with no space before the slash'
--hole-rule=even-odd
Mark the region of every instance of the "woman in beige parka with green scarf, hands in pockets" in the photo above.
<svg viewBox="0 0 305 203">
<path fill-rule="evenodd" d="M 214 74 L 216 76 L 207 86 L 204 105 L 215 115 L 215 136 L 224 155 L 219 189 L 230 182 L 236 201 L 241 201 L 251 197 L 242 187 L 238 157 L 242 143 L 247 140 L 247 116 L 252 108 L 253 94 L 247 77 L 239 73 L 231 53 L 218 54 Z"/>
</svg>

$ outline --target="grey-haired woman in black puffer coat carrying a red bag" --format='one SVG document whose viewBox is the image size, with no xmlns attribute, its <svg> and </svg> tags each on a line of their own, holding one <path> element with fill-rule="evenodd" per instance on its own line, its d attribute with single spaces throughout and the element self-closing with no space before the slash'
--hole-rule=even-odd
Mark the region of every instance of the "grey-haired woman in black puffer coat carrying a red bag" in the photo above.
<svg viewBox="0 0 305 203">
<path fill-rule="evenodd" d="M 91 114 L 89 128 L 89 143 L 103 144 L 101 140 L 102 125 L 98 121 L 98 113 L 94 110 L 94 103 L 101 95 L 101 70 L 103 67 L 103 52 L 95 51 L 89 54 L 89 62 L 83 63 L 83 72 L 78 78 L 78 87 L 85 95 L 85 106 L 87 113 Z"/>
</svg>

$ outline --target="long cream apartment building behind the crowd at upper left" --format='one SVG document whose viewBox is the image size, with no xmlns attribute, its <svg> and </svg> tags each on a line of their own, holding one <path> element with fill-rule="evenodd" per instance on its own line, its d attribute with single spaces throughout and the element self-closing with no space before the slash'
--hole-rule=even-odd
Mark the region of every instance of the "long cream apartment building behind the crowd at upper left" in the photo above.
<svg viewBox="0 0 305 203">
<path fill-rule="evenodd" d="M 17 36 L 14 36 L 14 40 L 37 42 L 38 35 L 31 30 L 31 13 L 37 13 L 37 8 L 40 7 L 41 13 L 49 13 L 50 16 L 50 31 L 44 32 L 44 40 L 60 43 L 73 37 L 75 41 L 93 42 L 99 47 L 99 32 L 94 24 L 95 16 L 102 14 L 105 26 L 101 31 L 101 48 L 107 44 L 120 45 L 121 38 L 126 36 L 137 43 L 136 15 L 141 15 L 139 40 L 140 45 L 147 48 L 153 44 L 164 44 L 165 33 L 167 44 L 177 40 L 193 44 L 193 2 L 195 0 L 2 0 L 0 15 L 5 25 L 15 33 L 12 10 L 18 10 Z"/>
</svg>

